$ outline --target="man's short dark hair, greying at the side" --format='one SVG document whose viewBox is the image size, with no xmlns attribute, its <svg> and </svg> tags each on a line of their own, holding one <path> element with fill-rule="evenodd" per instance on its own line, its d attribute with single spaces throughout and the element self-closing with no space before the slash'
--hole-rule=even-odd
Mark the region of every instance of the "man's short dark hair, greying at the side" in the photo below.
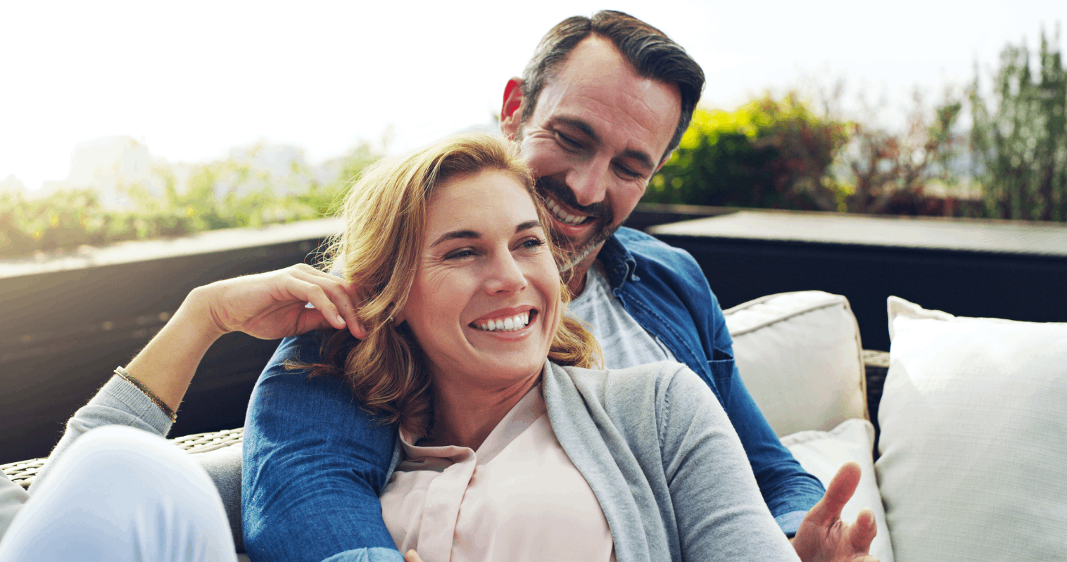
<svg viewBox="0 0 1067 562">
<path fill-rule="evenodd" d="M 574 47 L 593 34 L 610 41 L 638 76 L 678 85 L 682 94 L 682 115 L 663 155 L 666 158 L 678 148 L 682 134 L 689 127 L 692 110 L 704 89 L 704 71 L 664 32 L 622 12 L 602 10 L 592 18 L 569 17 L 545 34 L 523 71 L 523 122 L 534 114 L 541 91 L 556 78 L 556 71 Z"/>
</svg>

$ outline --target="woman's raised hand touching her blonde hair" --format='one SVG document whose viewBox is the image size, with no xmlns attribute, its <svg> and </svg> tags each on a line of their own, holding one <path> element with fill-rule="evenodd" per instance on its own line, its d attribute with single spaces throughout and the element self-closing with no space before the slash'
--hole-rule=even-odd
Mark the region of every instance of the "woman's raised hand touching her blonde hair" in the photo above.
<svg viewBox="0 0 1067 562">
<path fill-rule="evenodd" d="M 204 301 L 217 337 L 243 332 L 278 339 L 328 326 L 348 327 L 356 338 L 366 337 L 355 316 L 354 288 L 305 263 L 216 282 L 194 290 L 190 298 L 194 295 Z"/>
</svg>

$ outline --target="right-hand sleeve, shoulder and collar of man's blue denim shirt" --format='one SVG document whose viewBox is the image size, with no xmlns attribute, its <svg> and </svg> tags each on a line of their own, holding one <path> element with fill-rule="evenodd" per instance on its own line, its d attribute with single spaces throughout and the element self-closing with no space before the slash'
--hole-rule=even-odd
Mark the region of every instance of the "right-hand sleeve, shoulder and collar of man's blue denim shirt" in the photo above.
<svg viewBox="0 0 1067 562">
<path fill-rule="evenodd" d="M 611 292 L 644 330 L 700 375 L 730 417 L 770 513 L 789 536 L 825 493 L 782 446 L 737 373 L 718 299 L 687 252 L 632 228 L 601 248 Z"/>
</svg>

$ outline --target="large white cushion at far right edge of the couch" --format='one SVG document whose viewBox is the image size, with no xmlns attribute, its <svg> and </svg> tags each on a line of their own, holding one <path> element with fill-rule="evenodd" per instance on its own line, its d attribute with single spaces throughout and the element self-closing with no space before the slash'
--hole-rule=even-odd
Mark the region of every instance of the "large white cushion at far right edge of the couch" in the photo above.
<svg viewBox="0 0 1067 562">
<path fill-rule="evenodd" d="M 889 298 L 875 463 L 901 562 L 1064 560 L 1067 324 Z"/>
</svg>

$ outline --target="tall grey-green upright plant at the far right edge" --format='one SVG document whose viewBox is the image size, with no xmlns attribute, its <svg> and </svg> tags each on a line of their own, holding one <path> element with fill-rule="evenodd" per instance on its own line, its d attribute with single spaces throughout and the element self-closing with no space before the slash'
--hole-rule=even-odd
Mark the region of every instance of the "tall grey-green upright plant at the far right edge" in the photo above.
<svg viewBox="0 0 1067 562">
<path fill-rule="evenodd" d="M 993 80 L 994 105 L 970 91 L 971 149 L 982 168 L 986 213 L 1002 219 L 1067 221 L 1067 76 L 1058 45 L 1041 32 L 1039 71 L 1025 45 L 1008 45 Z"/>
</svg>

